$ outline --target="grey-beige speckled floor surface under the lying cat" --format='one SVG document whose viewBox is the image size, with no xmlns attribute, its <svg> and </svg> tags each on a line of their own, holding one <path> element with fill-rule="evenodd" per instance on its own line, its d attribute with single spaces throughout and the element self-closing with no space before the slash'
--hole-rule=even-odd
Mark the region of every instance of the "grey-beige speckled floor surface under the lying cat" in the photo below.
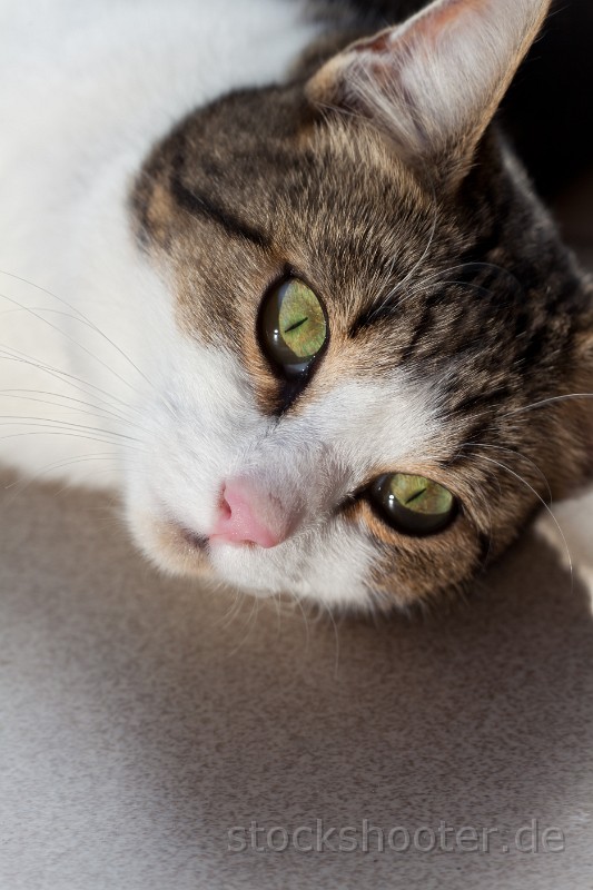
<svg viewBox="0 0 593 890">
<path fill-rule="evenodd" d="M 563 209 L 585 251 L 586 195 Z M 107 497 L 2 482 L 2 890 L 591 889 L 591 501 L 559 511 L 572 585 L 544 521 L 453 614 L 307 627 L 157 576 Z M 498 833 L 490 852 L 228 850 L 231 827 L 318 819 L 358 844 L 364 819 Z M 563 852 L 513 849 L 533 819 Z"/>
</svg>

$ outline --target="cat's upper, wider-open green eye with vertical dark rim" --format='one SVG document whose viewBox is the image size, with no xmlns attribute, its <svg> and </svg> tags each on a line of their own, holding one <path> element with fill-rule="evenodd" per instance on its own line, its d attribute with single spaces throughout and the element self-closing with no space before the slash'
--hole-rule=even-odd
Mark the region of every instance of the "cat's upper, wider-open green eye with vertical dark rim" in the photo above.
<svg viewBox="0 0 593 890">
<path fill-rule="evenodd" d="M 266 295 L 259 326 L 266 355 L 288 377 L 307 370 L 327 339 L 324 308 L 298 278 L 283 281 Z"/>
</svg>

